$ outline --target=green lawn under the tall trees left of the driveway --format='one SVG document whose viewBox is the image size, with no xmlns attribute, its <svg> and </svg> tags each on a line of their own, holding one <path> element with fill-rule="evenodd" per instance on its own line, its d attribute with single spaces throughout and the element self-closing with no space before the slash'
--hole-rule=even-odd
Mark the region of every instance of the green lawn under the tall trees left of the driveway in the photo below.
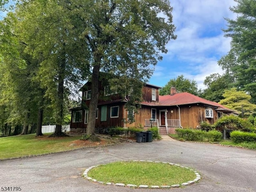
<svg viewBox="0 0 256 192">
<path fill-rule="evenodd" d="M 69 146 L 70 142 L 80 138 L 81 136 L 45 138 L 35 137 L 35 134 L 0 138 L 0 160 L 72 150 L 78 147 Z"/>
</svg>

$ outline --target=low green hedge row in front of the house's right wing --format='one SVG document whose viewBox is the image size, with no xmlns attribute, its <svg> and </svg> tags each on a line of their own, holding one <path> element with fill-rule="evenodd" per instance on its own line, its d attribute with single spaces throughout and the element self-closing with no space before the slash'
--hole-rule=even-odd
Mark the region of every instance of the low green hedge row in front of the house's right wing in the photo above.
<svg viewBox="0 0 256 192">
<path fill-rule="evenodd" d="M 192 129 L 176 129 L 178 137 L 187 141 L 220 141 L 222 139 L 222 133 L 217 130 L 203 131 Z"/>
</svg>

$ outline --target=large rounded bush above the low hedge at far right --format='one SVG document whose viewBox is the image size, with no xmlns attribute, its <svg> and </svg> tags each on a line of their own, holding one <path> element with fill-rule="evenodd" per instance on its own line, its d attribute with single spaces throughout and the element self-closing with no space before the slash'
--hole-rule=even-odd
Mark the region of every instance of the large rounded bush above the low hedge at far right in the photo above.
<svg viewBox="0 0 256 192">
<path fill-rule="evenodd" d="M 246 132 L 254 131 L 254 128 L 250 122 L 234 115 L 222 116 L 215 122 L 214 126 L 217 130 L 231 129 Z"/>
</svg>

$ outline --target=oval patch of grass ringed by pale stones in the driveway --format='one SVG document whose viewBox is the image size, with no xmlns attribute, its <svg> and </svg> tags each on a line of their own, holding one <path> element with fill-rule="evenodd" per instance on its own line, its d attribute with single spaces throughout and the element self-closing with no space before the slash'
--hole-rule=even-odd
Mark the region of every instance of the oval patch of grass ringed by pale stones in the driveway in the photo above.
<svg viewBox="0 0 256 192">
<path fill-rule="evenodd" d="M 163 186 L 194 180 L 194 171 L 155 162 L 114 162 L 91 169 L 88 176 L 102 182 Z"/>
</svg>

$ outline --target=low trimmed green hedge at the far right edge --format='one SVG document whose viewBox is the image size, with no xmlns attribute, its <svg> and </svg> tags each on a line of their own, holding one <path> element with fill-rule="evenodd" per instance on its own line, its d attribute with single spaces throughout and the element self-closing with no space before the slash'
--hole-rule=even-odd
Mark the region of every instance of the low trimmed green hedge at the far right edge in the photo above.
<svg viewBox="0 0 256 192">
<path fill-rule="evenodd" d="M 234 143 L 255 142 L 256 133 L 233 131 L 230 133 L 230 138 Z"/>
</svg>

